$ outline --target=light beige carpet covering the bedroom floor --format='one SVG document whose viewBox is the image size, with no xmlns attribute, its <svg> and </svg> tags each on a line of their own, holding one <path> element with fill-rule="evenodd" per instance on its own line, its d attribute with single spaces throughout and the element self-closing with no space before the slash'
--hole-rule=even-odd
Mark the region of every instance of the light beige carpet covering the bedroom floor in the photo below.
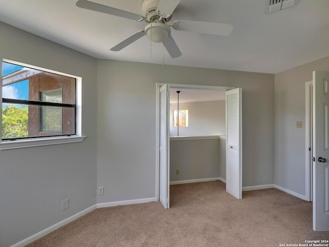
<svg viewBox="0 0 329 247">
<path fill-rule="evenodd" d="M 246 191 L 242 200 L 220 181 L 170 191 L 168 210 L 160 202 L 99 208 L 27 246 L 255 247 L 329 239 L 312 230 L 312 203 L 278 189 Z"/>
</svg>

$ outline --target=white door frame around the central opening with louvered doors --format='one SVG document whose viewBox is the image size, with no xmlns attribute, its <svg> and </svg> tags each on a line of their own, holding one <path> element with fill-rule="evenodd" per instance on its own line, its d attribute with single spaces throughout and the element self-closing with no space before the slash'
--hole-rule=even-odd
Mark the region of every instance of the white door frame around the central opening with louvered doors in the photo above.
<svg viewBox="0 0 329 247">
<path fill-rule="evenodd" d="M 160 86 L 168 84 L 169 91 L 170 88 L 173 87 L 175 89 L 195 89 L 195 90 L 217 90 L 217 91 L 228 91 L 235 89 L 234 86 L 209 86 L 209 85 L 192 85 L 192 84 L 174 84 L 174 83 L 156 83 L 156 126 L 155 126 L 155 198 L 159 200 L 159 145 L 160 145 L 160 138 L 159 138 L 159 101 L 160 101 Z M 168 116 L 170 117 L 170 111 L 168 111 Z M 168 174 L 170 176 L 170 174 Z"/>
</svg>

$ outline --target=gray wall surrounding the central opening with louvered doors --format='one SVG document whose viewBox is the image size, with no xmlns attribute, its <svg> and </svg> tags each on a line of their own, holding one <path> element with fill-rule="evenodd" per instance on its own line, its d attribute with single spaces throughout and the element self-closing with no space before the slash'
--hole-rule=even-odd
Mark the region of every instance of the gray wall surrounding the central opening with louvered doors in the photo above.
<svg viewBox="0 0 329 247">
<path fill-rule="evenodd" d="M 98 203 L 155 197 L 157 82 L 242 87 L 243 186 L 274 182 L 274 75 L 99 60 Z"/>
</svg>

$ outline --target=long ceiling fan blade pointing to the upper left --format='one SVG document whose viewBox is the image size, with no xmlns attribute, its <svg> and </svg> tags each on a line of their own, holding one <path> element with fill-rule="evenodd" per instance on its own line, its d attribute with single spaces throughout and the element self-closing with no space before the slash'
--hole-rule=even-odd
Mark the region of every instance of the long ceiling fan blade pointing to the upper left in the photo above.
<svg viewBox="0 0 329 247">
<path fill-rule="evenodd" d="M 105 13 L 105 14 L 112 14 L 112 15 L 120 16 L 120 17 L 123 17 L 126 19 L 135 20 L 135 21 L 139 21 L 141 19 L 145 20 L 144 16 L 134 14 L 131 12 L 127 12 L 127 11 L 124 11 L 121 9 L 112 8 L 112 7 L 109 7 L 106 5 L 97 4 L 97 3 L 90 2 L 87 0 L 78 0 L 76 5 L 79 8 L 94 10 L 94 11 Z"/>
</svg>

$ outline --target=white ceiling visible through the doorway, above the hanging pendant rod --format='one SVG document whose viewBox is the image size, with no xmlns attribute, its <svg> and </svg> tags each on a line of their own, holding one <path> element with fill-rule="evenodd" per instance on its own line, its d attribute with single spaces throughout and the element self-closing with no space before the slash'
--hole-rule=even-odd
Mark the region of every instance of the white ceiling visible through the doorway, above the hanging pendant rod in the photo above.
<svg viewBox="0 0 329 247">
<path fill-rule="evenodd" d="M 170 103 L 177 103 L 177 91 L 179 103 L 225 100 L 225 91 L 196 90 L 196 89 L 170 89 Z"/>
</svg>

